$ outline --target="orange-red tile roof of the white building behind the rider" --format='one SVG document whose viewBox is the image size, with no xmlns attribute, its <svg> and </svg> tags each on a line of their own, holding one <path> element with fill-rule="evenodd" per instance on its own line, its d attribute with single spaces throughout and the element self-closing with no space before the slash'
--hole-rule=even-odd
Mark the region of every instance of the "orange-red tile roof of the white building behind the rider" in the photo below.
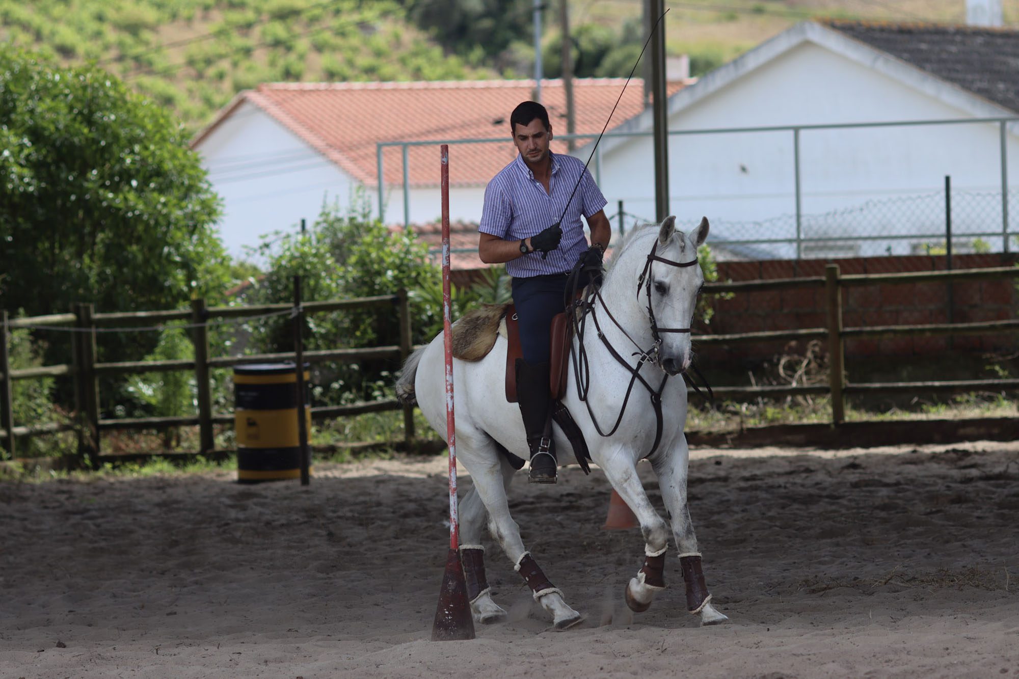
<svg viewBox="0 0 1019 679">
<path fill-rule="evenodd" d="M 578 134 L 598 134 L 623 91 L 625 79 L 574 81 Z M 668 83 L 672 96 L 686 83 Z M 534 81 L 415 83 L 271 83 L 240 93 L 195 138 L 197 146 L 228 119 L 244 101 L 258 106 L 365 186 L 377 178 L 377 142 L 499 139 L 500 143 L 449 147 L 451 186 L 484 186 L 517 155 L 509 140 L 509 113 L 531 99 Z M 630 82 L 609 128 L 643 109 L 644 85 Z M 566 134 L 566 95 L 560 80 L 542 81 L 542 102 L 552 132 Z M 583 143 L 583 142 L 581 142 Z M 566 151 L 553 142 L 553 150 Z M 404 181 L 403 151 L 384 147 L 385 184 Z M 439 182 L 435 146 L 410 147 L 408 180 L 414 187 Z"/>
</svg>

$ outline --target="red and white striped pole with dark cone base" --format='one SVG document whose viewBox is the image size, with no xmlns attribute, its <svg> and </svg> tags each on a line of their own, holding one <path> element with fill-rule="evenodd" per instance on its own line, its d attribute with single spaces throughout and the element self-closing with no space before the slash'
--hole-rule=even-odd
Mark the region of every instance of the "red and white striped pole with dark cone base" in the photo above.
<svg viewBox="0 0 1019 679">
<path fill-rule="evenodd" d="M 460 561 L 460 519 L 457 515 L 457 424 L 453 417 L 452 337 L 449 289 L 449 146 L 441 147 L 442 190 L 442 345 L 445 349 L 446 441 L 449 443 L 449 555 L 439 605 L 432 624 L 432 641 L 474 638 L 474 619 Z"/>
</svg>

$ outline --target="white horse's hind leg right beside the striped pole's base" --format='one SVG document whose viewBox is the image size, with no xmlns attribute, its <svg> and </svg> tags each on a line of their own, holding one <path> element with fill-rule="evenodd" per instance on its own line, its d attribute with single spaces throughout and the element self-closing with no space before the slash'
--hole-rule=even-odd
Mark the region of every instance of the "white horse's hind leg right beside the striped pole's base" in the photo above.
<svg viewBox="0 0 1019 679">
<path fill-rule="evenodd" d="M 503 488 L 507 489 L 517 470 L 501 456 L 500 462 Z M 472 487 L 460 504 L 460 555 L 464 563 L 471 613 L 477 622 L 491 624 L 505 620 L 506 612 L 492 600 L 491 588 L 485 576 L 485 547 L 481 544 L 481 533 L 487 518 L 488 511 L 481 502 L 477 486 Z"/>
</svg>

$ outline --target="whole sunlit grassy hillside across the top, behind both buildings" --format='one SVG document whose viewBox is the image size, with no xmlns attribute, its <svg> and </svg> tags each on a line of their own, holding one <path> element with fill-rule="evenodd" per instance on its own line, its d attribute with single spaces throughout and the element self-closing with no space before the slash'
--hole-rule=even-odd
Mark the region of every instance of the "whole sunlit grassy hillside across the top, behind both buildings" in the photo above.
<svg viewBox="0 0 1019 679">
<path fill-rule="evenodd" d="M 422 0 L 0 0 L 0 40 L 65 62 L 95 61 L 172 108 L 191 129 L 207 122 L 237 91 L 263 82 L 531 74 L 527 30 L 520 30 L 520 40 L 497 56 L 483 46 L 465 47 L 464 37 L 459 47 L 443 48 L 409 20 L 407 6 L 416 2 Z M 575 31 L 595 27 L 602 45 L 619 44 L 620 36 L 643 42 L 642 0 L 570 2 Z M 546 54 L 557 63 L 558 3 L 546 4 Z M 494 3 L 503 5 L 509 3 Z M 811 16 L 965 18 L 964 0 L 701 0 L 665 5 L 671 8 L 667 49 L 689 53 L 695 74 Z M 1005 10 L 1007 22 L 1019 20 L 1017 3 L 1006 3 Z M 522 20 L 530 25 L 526 12 Z M 633 55 L 619 53 L 597 73 L 628 72 Z"/>
</svg>

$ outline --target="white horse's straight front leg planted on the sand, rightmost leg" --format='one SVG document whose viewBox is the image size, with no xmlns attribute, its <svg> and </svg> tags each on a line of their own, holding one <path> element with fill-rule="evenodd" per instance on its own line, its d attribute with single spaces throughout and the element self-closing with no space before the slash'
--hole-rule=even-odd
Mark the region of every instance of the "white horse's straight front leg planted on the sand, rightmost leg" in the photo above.
<svg viewBox="0 0 1019 679">
<path fill-rule="evenodd" d="M 651 464 L 658 475 L 661 497 L 673 520 L 673 534 L 680 551 L 680 569 L 687 590 L 687 611 L 693 615 L 700 614 L 701 625 L 717 625 L 729 618 L 711 606 L 711 594 L 704 583 L 701 554 L 687 505 L 688 460 L 689 450 L 684 436 L 679 446 L 672 451 L 662 451 Z"/>
</svg>

